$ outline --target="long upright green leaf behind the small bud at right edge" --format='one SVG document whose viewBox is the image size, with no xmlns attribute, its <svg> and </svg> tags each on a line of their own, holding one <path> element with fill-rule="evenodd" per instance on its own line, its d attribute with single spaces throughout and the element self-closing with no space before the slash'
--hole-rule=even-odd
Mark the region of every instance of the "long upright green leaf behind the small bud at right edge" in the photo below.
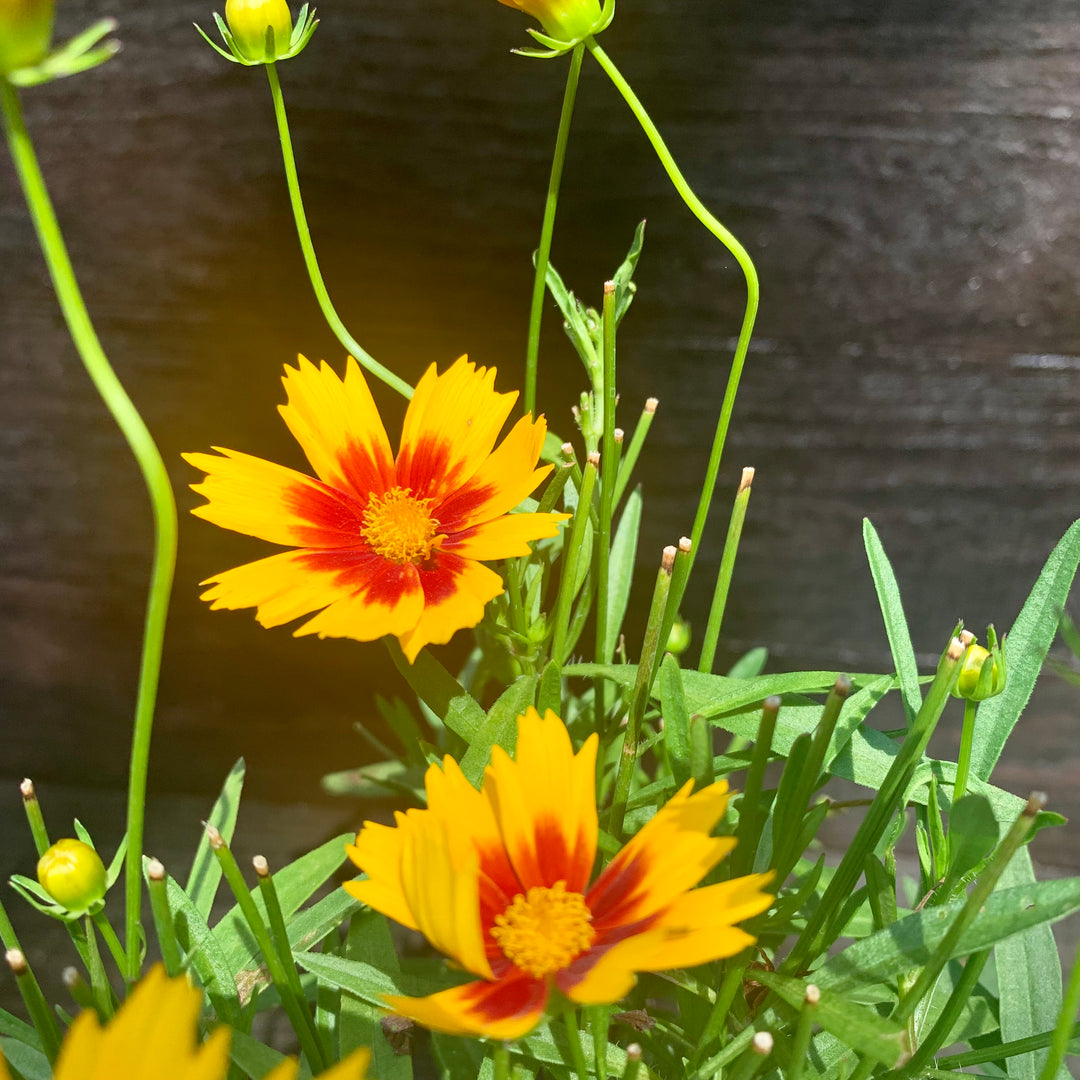
<svg viewBox="0 0 1080 1080">
<path fill-rule="evenodd" d="M 1057 621 L 1080 565 L 1080 522 L 1074 522 L 1053 550 L 1031 594 L 1005 638 L 1009 678 L 1004 690 L 978 706 L 978 738 L 971 771 L 988 780 L 1005 740 L 1031 697 L 1039 670 L 1057 633 Z"/>
</svg>

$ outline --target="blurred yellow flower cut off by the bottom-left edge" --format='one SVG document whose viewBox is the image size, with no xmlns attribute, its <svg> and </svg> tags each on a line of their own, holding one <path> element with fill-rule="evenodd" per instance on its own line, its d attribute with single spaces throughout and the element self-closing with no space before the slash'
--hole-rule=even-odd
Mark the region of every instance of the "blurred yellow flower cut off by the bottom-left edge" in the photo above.
<svg viewBox="0 0 1080 1080">
<path fill-rule="evenodd" d="M 157 964 L 105 1027 L 92 1009 L 79 1014 L 60 1047 L 54 1080 L 225 1080 L 230 1030 L 219 1027 L 197 1041 L 202 998 L 186 978 L 170 978 Z M 369 1056 L 355 1051 L 323 1072 L 323 1080 L 364 1080 Z M 286 1059 L 266 1080 L 295 1080 L 297 1070 Z M 0 1080 L 11 1080 L 2 1054 Z"/>
</svg>

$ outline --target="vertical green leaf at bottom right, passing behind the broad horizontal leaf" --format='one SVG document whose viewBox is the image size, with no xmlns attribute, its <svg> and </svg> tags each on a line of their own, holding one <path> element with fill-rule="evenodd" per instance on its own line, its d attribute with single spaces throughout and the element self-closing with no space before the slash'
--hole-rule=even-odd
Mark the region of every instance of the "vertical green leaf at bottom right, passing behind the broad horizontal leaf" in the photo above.
<svg viewBox="0 0 1080 1080">
<path fill-rule="evenodd" d="M 1039 888 L 1027 848 L 1013 855 L 1000 885 L 1013 886 L 1012 891 Z M 1049 923 L 1040 922 L 1000 942 L 994 949 L 994 963 L 998 973 L 1001 1041 L 1012 1042 L 1052 1028 L 1062 1008 L 1062 962 Z M 1009 1076 L 1015 1080 L 1036 1080 L 1045 1057 L 1044 1050 L 1020 1054 L 1010 1059 Z M 1064 1066 L 1057 1077 L 1069 1080 Z"/>
</svg>

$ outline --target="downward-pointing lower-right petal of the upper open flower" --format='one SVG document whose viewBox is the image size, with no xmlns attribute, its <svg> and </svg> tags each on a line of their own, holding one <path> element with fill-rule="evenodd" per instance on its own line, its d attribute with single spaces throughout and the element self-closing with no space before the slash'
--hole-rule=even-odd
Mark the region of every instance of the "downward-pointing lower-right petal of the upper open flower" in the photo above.
<svg viewBox="0 0 1080 1080">
<path fill-rule="evenodd" d="M 494 570 L 445 552 L 434 555 L 430 569 L 418 572 L 423 613 L 413 630 L 399 634 L 409 663 L 426 645 L 443 645 L 459 630 L 475 626 L 484 618 L 485 606 L 502 593 L 502 579 Z"/>
</svg>

